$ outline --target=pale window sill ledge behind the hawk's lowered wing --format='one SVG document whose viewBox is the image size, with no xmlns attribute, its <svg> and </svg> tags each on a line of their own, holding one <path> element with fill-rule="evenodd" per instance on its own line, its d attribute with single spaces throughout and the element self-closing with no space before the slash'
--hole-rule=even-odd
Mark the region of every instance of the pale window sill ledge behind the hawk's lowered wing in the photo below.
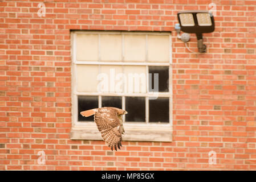
<svg viewBox="0 0 256 182">
<path fill-rule="evenodd" d="M 70 139 L 103 140 L 95 123 L 82 123 L 71 129 Z M 164 124 L 124 123 L 124 141 L 172 142 L 172 127 Z"/>
</svg>

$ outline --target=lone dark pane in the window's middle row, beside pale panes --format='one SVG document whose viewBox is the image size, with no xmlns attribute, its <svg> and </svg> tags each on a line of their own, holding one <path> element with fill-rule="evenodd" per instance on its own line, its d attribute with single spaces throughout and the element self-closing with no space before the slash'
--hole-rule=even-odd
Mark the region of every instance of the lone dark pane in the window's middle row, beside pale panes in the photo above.
<svg viewBox="0 0 256 182">
<path fill-rule="evenodd" d="M 157 91 L 154 86 L 154 73 L 159 74 L 159 90 L 158 92 L 169 92 L 169 67 L 149 67 L 149 73 L 152 74 L 151 79 L 149 77 L 149 91 Z"/>
</svg>

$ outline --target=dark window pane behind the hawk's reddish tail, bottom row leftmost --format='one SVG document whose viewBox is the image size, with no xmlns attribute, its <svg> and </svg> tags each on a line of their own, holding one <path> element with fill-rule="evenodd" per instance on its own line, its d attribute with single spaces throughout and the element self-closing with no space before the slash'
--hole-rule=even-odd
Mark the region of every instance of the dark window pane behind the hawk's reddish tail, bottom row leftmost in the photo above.
<svg viewBox="0 0 256 182">
<path fill-rule="evenodd" d="M 94 121 L 94 116 L 83 117 L 81 111 L 98 107 L 98 96 L 78 96 L 78 121 Z"/>
</svg>

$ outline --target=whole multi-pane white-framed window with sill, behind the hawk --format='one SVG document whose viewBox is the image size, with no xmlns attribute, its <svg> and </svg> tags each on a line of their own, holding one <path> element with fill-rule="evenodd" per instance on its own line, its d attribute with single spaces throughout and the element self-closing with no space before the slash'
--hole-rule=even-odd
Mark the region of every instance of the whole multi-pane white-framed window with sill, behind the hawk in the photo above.
<svg viewBox="0 0 256 182">
<path fill-rule="evenodd" d="M 124 140 L 172 140 L 170 32 L 72 32 L 71 139 L 100 139 L 80 111 L 119 107 Z"/>
</svg>

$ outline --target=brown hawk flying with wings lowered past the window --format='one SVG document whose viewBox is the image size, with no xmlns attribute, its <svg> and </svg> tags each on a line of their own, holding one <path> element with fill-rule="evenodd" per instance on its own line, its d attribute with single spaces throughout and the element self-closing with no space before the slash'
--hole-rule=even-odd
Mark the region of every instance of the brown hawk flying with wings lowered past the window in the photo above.
<svg viewBox="0 0 256 182">
<path fill-rule="evenodd" d="M 80 112 L 84 117 L 94 115 L 97 129 L 101 133 L 101 137 L 113 150 L 116 146 L 120 149 L 122 134 L 124 134 L 122 115 L 127 111 L 116 107 L 101 107 Z"/>
</svg>

